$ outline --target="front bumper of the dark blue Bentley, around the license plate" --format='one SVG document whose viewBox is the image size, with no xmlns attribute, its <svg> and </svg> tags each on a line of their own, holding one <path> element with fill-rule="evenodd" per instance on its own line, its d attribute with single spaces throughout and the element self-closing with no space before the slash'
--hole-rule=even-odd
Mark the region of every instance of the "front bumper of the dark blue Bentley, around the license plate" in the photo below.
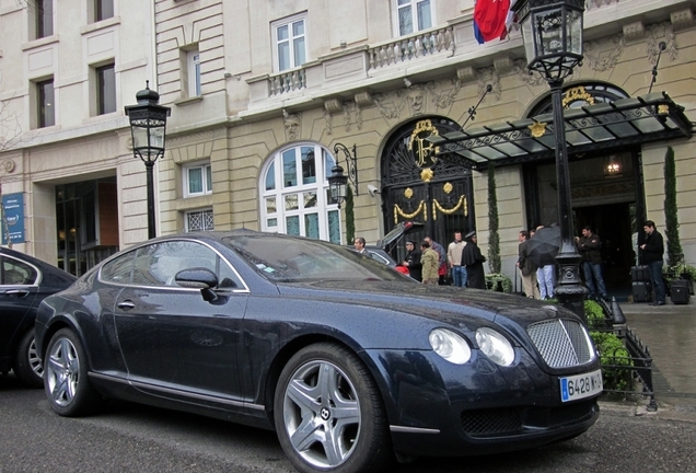
<svg viewBox="0 0 696 473">
<path fill-rule="evenodd" d="M 409 457 L 475 455 L 535 448 L 578 436 L 599 418 L 598 395 L 561 402 L 559 378 L 524 351 L 511 367 L 479 351 L 463 366 L 432 351 L 370 350 L 380 370 L 394 449 Z"/>
</svg>

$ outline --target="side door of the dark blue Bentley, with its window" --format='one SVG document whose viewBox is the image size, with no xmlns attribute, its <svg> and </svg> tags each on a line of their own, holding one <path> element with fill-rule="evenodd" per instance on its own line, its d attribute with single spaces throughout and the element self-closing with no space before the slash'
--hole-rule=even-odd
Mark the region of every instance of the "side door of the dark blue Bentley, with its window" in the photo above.
<svg viewBox="0 0 696 473">
<path fill-rule="evenodd" d="M 176 285 L 176 273 L 194 267 L 216 273 L 217 300 Z M 247 297 L 239 274 L 205 244 L 175 240 L 138 249 L 114 310 L 129 379 L 141 389 L 156 385 L 158 395 L 241 399 L 237 359 Z"/>
</svg>

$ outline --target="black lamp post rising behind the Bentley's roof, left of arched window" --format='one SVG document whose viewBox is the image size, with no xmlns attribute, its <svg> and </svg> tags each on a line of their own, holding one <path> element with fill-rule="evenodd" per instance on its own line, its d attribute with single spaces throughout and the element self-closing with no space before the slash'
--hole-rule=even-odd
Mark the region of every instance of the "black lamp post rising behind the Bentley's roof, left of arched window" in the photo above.
<svg viewBox="0 0 696 473">
<path fill-rule="evenodd" d="M 159 105 L 160 94 L 150 90 L 146 81 L 144 90 L 136 94 L 138 105 L 129 105 L 126 115 L 130 120 L 132 153 L 146 165 L 148 175 L 148 238 L 156 236 L 154 223 L 154 185 L 152 170 L 156 160 L 164 154 L 166 117 L 171 108 Z"/>
</svg>

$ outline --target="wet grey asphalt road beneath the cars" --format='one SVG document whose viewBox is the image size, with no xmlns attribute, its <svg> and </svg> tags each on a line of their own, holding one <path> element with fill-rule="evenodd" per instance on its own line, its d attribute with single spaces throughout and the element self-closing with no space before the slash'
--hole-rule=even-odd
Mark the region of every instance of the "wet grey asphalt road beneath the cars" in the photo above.
<svg viewBox="0 0 696 473">
<path fill-rule="evenodd" d="M 294 471 L 269 431 L 116 402 L 93 417 L 62 418 L 44 395 L 0 377 L 0 473 Z M 602 407 L 598 424 L 570 441 L 496 457 L 419 459 L 392 472 L 696 472 L 696 409 Z"/>
</svg>

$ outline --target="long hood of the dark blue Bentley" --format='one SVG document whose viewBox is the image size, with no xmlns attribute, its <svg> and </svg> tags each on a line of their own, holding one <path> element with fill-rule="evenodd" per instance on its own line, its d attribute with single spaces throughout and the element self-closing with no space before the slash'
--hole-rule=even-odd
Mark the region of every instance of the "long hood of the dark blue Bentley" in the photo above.
<svg viewBox="0 0 696 473">
<path fill-rule="evenodd" d="M 403 281 L 340 280 L 282 284 L 286 296 L 346 302 L 363 308 L 388 309 L 424 316 L 440 323 L 468 325 L 472 318 L 487 320 L 517 332 L 542 320 L 577 315 L 561 307 L 502 292 L 462 289 L 453 286 L 426 286 Z"/>
</svg>

